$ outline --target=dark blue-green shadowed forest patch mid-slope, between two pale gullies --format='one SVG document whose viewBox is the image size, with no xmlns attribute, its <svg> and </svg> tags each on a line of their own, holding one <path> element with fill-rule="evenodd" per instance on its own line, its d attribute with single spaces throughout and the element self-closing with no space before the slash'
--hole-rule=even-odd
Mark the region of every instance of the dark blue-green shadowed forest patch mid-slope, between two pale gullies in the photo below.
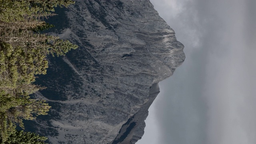
<svg viewBox="0 0 256 144">
<path fill-rule="evenodd" d="M 82 86 L 74 70 L 62 57 L 50 57 L 50 66 L 46 75 L 40 75 L 35 84 L 46 86 L 40 92 L 49 100 L 67 100 L 66 85 L 71 85 L 74 90 Z"/>
</svg>

